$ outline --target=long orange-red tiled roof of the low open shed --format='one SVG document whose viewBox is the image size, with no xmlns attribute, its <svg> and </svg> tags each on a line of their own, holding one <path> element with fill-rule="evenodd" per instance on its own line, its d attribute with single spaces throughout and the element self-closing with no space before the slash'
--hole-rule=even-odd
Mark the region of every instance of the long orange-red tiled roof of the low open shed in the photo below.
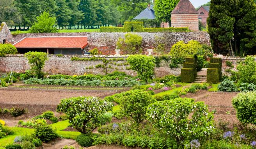
<svg viewBox="0 0 256 149">
<path fill-rule="evenodd" d="M 85 48 L 86 36 L 25 37 L 13 44 L 16 48 Z"/>
</svg>

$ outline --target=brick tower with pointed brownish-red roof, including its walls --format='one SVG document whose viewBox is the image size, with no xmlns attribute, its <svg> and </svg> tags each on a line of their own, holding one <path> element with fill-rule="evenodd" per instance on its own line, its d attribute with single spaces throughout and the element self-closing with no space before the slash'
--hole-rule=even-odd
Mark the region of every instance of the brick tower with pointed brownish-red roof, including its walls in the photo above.
<svg viewBox="0 0 256 149">
<path fill-rule="evenodd" d="M 180 0 L 171 12 L 171 27 L 188 27 L 199 31 L 198 11 L 189 0 Z"/>
</svg>

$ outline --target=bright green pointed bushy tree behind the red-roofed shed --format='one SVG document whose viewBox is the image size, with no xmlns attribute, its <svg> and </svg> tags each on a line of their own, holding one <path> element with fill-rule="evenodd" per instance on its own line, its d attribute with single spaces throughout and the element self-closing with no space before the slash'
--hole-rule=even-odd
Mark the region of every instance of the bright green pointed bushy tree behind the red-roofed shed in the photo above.
<svg viewBox="0 0 256 149">
<path fill-rule="evenodd" d="M 32 25 L 28 30 L 30 33 L 56 33 L 58 32 L 57 28 L 53 27 L 56 23 L 55 17 L 50 17 L 49 12 L 43 12 L 37 18 L 37 22 Z"/>
</svg>

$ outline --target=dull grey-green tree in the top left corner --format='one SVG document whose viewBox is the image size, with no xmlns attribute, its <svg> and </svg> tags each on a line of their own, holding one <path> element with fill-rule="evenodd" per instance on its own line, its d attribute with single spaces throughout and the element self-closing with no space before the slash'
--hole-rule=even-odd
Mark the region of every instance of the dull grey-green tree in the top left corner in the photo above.
<svg viewBox="0 0 256 149">
<path fill-rule="evenodd" d="M 13 0 L 0 0 L 0 22 L 12 26 L 21 23 L 20 13 L 14 7 Z"/>
</svg>

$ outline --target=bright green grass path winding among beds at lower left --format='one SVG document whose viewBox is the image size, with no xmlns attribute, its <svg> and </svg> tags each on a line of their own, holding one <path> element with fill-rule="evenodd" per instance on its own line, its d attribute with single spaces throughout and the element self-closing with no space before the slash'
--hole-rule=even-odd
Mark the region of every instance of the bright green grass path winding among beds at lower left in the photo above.
<svg viewBox="0 0 256 149">
<path fill-rule="evenodd" d="M 69 126 L 68 120 L 51 124 L 51 126 L 57 130 L 57 134 L 61 138 L 75 139 L 78 135 L 81 134 L 80 132 L 75 132 L 75 131 L 62 131 L 63 129 Z M 24 134 L 34 133 L 34 129 L 30 129 L 30 128 L 12 127 L 12 130 L 14 131 L 13 135 L 9 135 L 5 138 L 0 139 L 0 147 L 13 143 L 15 137 L 18 137 Z"/>
</svg>

